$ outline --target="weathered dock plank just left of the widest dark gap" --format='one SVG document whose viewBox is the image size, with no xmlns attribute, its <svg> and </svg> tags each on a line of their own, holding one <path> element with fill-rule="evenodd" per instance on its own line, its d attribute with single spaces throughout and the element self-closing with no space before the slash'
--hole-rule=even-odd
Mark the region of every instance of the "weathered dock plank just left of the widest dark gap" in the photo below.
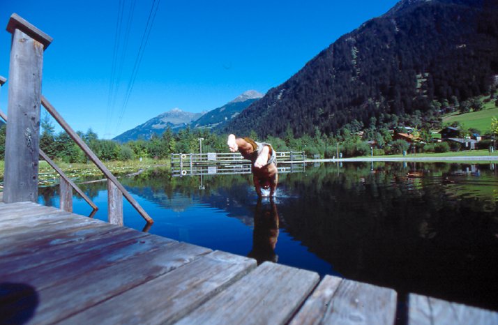
<svg viewBox="0 0 498 325">
<path fill-rule="evenodd" d="M 326 275 L 290 324 L 394 324 L 396 292 Z"/>
</svg>

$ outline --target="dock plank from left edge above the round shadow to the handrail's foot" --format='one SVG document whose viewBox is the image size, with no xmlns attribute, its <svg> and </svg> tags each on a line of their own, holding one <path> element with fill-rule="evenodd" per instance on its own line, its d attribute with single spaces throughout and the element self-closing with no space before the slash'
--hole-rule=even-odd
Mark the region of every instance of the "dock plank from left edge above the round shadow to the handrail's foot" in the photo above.
<svg viewBox="0 0 498 325">
<path fill-rule="evenodd" d="M 137 232 L 134 229 L 126 227 L 98 228 L 98 230 L 98 232 L 92 233 L 91 236 L 88 236 L 89 234 L 86 233 L 86 238 L 82 241 L 44 247 L 42 250 L 43 254 L 35 252 L 26 253 L 24 251 L 22 255 L 2 257 L 0 259 L 0 270 L 2 270 L 0 273 L 6 275 L 20 272 L 25 269 L 59 261 L 60 259 L 84 254 L 90 250 L 100 250 L 106 248 L 108 245 L 146 236 L 143 232 Z"/>
</svg>

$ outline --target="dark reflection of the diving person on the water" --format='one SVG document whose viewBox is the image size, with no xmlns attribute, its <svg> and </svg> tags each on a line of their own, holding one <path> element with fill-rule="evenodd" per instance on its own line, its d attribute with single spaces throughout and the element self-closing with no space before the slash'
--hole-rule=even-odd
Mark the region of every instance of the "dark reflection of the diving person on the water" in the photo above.
<svg viewBox="0 0 498 325">
<path fill-rule="evenodd" d="M 254 232 L 252 233 L 252 250 L 248 257 L 256 259 L 257 264 L 265 261 L 277 262 L 275 246 L 278 239 L 278 212 L 273 199 L 270 204 L 262 204 L 259 198 L 254 216 Z"/>
</svg>

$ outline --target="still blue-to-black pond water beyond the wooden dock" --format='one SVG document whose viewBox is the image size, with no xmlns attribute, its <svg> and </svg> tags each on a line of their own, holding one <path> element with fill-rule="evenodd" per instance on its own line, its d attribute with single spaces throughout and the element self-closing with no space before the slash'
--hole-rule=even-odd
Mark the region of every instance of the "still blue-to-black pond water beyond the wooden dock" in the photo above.
<svg viewBox="0 0 498 325">
<path fill-rule="evenodd" d="M 280 174 L 275 199 L 250 175 L 121 179 L 151 234 L 498 310 L 498 165 L 376 162 L 308 165 Z M 107 220 L 105 183 L 80 186 Z M 58 187 L 40 203 L 58 206 Z M 123 202 L 125 225 L 142 217 Z M 75 197 L 75 213 L 91 208 Z"/>
</svg>

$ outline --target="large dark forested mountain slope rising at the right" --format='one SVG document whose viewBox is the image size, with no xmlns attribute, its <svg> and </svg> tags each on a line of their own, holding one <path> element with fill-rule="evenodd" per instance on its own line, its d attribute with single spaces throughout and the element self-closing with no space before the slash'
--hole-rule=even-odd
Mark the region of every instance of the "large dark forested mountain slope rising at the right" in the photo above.
<svg viewBox="0 0 498 325">
<path fill-rule="evenodd" d="M 495 87 L 496 0 L 403 0 L 309 61 L 223 131 L 338 133 L 430 119 Z M 417 119 L 420 120 L 420 119 Z"/>
</svg>

